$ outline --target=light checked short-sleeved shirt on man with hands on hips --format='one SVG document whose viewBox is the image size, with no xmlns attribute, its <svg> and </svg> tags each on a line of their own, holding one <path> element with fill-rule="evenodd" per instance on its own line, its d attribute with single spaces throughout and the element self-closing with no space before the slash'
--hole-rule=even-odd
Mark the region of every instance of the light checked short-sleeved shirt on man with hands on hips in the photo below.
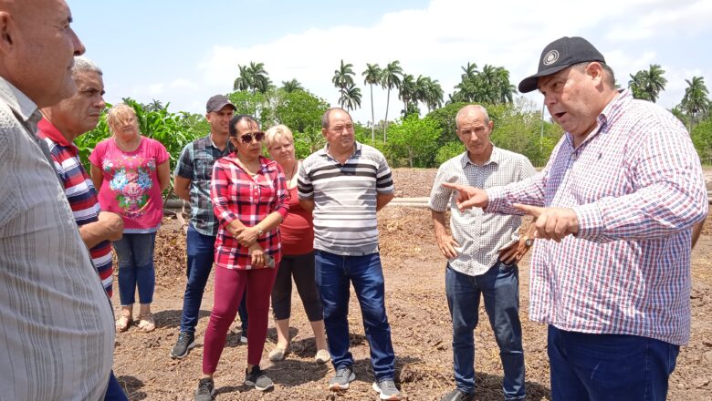
<svg viewBox="0 0 712 401">
<path fill-rule="evenodd" d="M 472 163 L 467 152 L 440 166 L 428 207 L 434 211 L 450 208 L 450 231 L 460 245 L 457 257 L 449 261 L 456 272 L 471 276 L 487 272 L 499 259 L 498 251 L 518 240 L 521 217 L 485 213 L 479 208 L 458 211 L 455 204 L 457 192 L 443 187 L 442 183 L 491 188 L 524 180 L 536 172 L 525 156 L 495 146 L 489 160 L 482 166 Z"/>
</svg>

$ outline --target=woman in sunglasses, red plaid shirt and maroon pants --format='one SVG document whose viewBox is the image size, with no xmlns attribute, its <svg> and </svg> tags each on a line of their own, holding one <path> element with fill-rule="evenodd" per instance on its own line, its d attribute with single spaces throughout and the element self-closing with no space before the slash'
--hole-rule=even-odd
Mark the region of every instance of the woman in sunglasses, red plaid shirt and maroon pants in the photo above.
<svg viewBox="0 0 712 401">
<path fill-rule="evenodd" d="M 257 121 L 249 116 L 230 120 L 229 140 L 236 152 L 215 162 L 210 195 L 220 229 L 215 240 L 215 304 L 205 332 L 203 374 L 195 399 L 211 399 L 213 374 L 235 320 L 246 287 L 246 386 L 272 388 L 259 362 L 267 337 L 269 295 L 281 260 L 277 226 L 288 212 L 287 183 L 276 161 L 262 157 Z"/>
</svg>

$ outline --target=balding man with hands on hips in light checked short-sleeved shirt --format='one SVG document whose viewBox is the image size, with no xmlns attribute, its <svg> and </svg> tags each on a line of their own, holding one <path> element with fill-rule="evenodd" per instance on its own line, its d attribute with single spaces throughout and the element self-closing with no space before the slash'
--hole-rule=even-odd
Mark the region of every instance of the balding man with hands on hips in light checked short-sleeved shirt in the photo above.
<svg viewBox="0 0 712 401">
<path fill-rule="evenodd" d="M 453 320 L 453 367 L 457 388 L 442 401 L 465 401 L 475 395 L 475 343 L 480 293 L 495 332 L 504 369 L 505 399 L 524 399 L 524 353 L 519 323 L 517 262 L 532 239 L 518 237 L 521 217 L 487 215 L 480 209 L 458 211 L 456 192 L 443 182 L 488 188 L 524 180 L 536 173 L 529 159 L 489 141 L 494 123 L 482 106 L 468 105 L 455 117 L 457 137 L 466 151 L 440 166 L 430 195 L 435 241 L 447 258 L 445 293 Z M 451 211 L 445 231 L 445 211 Z M 529 236 L 533 235 L 530 230 Z"/>
</svg>

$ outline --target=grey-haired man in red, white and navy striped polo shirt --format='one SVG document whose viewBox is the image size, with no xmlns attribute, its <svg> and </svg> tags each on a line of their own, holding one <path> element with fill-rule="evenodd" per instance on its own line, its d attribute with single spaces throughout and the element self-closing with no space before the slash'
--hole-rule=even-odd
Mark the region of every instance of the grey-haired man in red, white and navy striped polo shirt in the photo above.
<svg viewBox="0 0 712 401">
<path fill-rule="evenodd" d="M 120 240 L 123 221 L 116 213 L 100 210 L 97 190 L 81 165 L 79 149 L 73 142 L 97 127 L 101 110 L 106 107 L 101 76 L 101 69 L 88 58 L 75 57 L 72 77 L 77 93 L 42 109 L 37 136 L 47 143 L 81 239 L 89 248 L 104 290 L 111 296 L 111 241 Z"/>
</svg>

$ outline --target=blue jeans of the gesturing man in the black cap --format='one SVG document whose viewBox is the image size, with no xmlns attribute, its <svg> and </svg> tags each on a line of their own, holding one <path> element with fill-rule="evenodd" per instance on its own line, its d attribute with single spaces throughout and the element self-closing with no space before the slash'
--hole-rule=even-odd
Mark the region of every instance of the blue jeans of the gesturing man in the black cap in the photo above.
<svg viewBox="0 0 712 401">
<path fill-rule="evenodd" d="M 584 334 L 549 326 L 553 400 L 665 401 L 678 345 L 628 334 Z"/>
</svg>

